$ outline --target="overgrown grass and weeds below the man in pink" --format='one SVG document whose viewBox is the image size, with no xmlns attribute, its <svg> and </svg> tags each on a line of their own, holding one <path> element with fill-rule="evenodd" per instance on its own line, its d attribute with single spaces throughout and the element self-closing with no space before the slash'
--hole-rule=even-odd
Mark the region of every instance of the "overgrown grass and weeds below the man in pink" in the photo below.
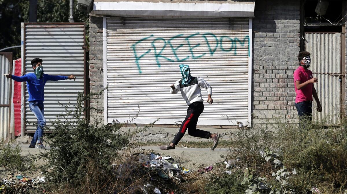
<svg viewBox="0 0 347 194">
<path fill-rule="evenodd" d="M 347 122 L 325 126 L 325 121 L 303 128 L 276 120 L 264 127 L 244 128 L 233 133 L 226 161 L 232 175 L 218 175 L 205 187 L 228 187 L 228 181 L 244 175 L 228 187 L 229 192 L 252 193 L 344 193 L 347 188 Z M 239 171 L 238 169 L 247 169 Z M 211 180 L 216 180 L 212 177 Z"/>
</svg>

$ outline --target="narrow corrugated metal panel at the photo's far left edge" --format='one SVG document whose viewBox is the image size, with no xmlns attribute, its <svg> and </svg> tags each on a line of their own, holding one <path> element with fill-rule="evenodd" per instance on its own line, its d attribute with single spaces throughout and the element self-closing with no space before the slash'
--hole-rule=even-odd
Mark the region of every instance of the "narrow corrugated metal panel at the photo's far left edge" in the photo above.
<svg viewBox="0 0 347 194">
<path fill-rule="evenodd" d="M 10 73 L 10 61 L 4 55 L 0 55 L 0 65 L 0 105 L 9 105 L 10 79 L 7 79 L 3 74 Z M 8 106 L 0 106 L 0 119 L 0 138 L 6 138 L 9 122 Z"/>
</svg>

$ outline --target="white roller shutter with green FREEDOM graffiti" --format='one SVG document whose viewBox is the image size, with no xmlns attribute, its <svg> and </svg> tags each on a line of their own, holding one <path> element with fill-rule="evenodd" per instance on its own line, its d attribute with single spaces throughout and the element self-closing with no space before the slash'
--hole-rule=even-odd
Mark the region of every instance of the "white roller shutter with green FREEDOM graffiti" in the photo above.
<svg viewBox="0 0 347 194">
<path fill-rule="evenodd" d="M 187 105 L 170 85 L 179 65 L 213 87 L 199 125 L 237 125 L 248 118 L 248 19 L 107 19 L 107 117 L 180 124 Z M 204 100 L 207 91 L 202 89 Z"/>
</svg>

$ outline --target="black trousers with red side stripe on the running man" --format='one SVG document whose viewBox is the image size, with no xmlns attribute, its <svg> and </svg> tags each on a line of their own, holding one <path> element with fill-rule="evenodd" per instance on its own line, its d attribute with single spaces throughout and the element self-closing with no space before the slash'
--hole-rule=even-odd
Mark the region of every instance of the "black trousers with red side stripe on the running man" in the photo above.
<svg viewBox="0 0 347 194">
<path fill-rule="evenodd" d="M 204 103 L 202 102 L 194 102 L 191 105 L 189 105 L 187 109 L 187 116 L 184 119 L 181 127 L 179 128 L 179 132 L 176 134 L 174 140 L 172 140 L 172 143 L 177 145 L 186 133 L 187 129 L 188 134 L 193 137 L 202 137 L 206 139 L 209 138 L 210 132 L 206 132 L 204 130 L 196 128 L 197 120 L 201 115 L 202 111 L 204 111 Z"/>
</svg>

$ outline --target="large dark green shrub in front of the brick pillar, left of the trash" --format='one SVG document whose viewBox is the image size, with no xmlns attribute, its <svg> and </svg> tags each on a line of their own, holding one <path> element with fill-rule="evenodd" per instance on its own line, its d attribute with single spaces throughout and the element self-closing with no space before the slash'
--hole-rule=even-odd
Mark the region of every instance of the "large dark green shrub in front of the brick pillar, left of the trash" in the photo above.
<svg viewBox="0 0 347 194">
<path fill-rule="evenodd" d="M 46 187 L 55 190 L 53 193 L 63 188 L 65 193 L 69 193 L 66 188 L 72 189 L 71 193 L 113 193 L 119 151 L 129 146 L 131 134 L 120 132 L 124 124 L 104 125 L 96 116 L 103 112 L 99 104 L 83 106 L 85 100 L 101 94 L 78 94 L 75 110 L 63 105 L 66 113 L 52 123 L 52 133 L 45 138 L 50 149 L 41 157 L 46 159 L 47 177 L 51 177 Z M 82 116 L 87 110 L 92 120 Z"/>
</svg>

